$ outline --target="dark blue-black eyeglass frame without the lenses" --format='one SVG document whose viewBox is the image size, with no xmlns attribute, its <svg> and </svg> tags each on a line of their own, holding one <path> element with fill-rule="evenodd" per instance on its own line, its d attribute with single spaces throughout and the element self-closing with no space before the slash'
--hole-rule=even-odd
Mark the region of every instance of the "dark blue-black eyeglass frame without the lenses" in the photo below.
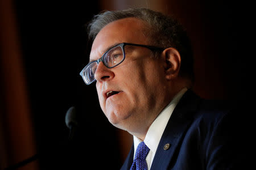
<svg viewBox="0 0 256 170">
<path fill-rule="evenodd" d="M 122 61 L 120 61 L 117 65 L 114 65 L 114 66 L 112 66 L 112 67 L 108 67 L 108 66 L 106 66 L 106 67 L 107 67 L 108 69 L 112 69 L 113 67 L 116 67 L 116 66 L 118 66 L 119 64 L 121 64 L 121 63 L 125 60 L 125 45 L 141 46 L 141 47 L 144 47 L 144 48 L 147 48 L 147 49 L 150 49 L 150 50 L 160 50 L 160 51 L 163 51 L 163 50 L 164 50 L 164 48 L 161 48 L 161 47 L 158 47 L 158 46 L 143 45 L 143 44 L 133 44 L 133 43 L 128 43 L 128 42 L 122 42 L 122 43 L 117 44 L 117 45 L 114 45 L 113 47 L 111 47 L 111 48 L 109 48 L 108 50 L 106 50 L 106 52 L 101 56 L 101 58 L 99 58 L 99 59 L 97 59 L 97 60 L 95 60 L 95 61 L 89 62 L 88 65 L 86 65 L 86 66 L 84 67 L 84 69 L 82 69 L 82 71 L 80 72 L 80 75 L 82 76 L 82 80 L 84 80 L 85 74 L 83 74 L 83 73 L 84 73 L 84 71 L 86 70 L 86 67 L 88 67 L 89 65 L 91 65 L 93 62 L 96 62 L 97 65 L 98 65 L 98 63 L 102 62 L 102 63 L 104 64 L 104 66 L 106 66 L 106 64 L 104 63 L 104 59 L 102 59 L 102 58 L 105 57 L 105 54 L 107 54 L 110 50 L 112 50 L 113 48 L 116 48 L 117 46 L 120 46 L 121 49 L 122 49 L 122 53 L 123 53 L 123 59 L 122 59 Z M 88 84 L 85 82 L 85 80 L 84 80 L 84 82 L 85 82 L 86 85 L 89 85 L 89 84 L 92 84 L 93 82 L 95 82 L 95 80 L 96 80 L 96 79 L 94 78 L 94 80 L 93 80 L 92 82 L 88 83 Z"/>
</svg>

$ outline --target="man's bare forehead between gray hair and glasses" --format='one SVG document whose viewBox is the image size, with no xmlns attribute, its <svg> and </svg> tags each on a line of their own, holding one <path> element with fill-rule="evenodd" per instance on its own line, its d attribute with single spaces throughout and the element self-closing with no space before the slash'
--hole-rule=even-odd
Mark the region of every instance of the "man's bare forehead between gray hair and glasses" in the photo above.
<svg viewBox="0 0 256 170">
<path fill-rule="evenodd" d="M 96 60 L 111 46 L 122 42 L 148 44 L 146 23 L 137 18 L 119 19 L 107 24 L 93 41 L 90 60 Z"/>
</svg>

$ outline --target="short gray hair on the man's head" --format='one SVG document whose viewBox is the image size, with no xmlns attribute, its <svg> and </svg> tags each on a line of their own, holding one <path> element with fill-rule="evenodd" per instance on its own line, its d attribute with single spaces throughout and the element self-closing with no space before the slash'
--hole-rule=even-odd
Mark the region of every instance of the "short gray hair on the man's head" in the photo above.
<svg viewBox="0 0 256 170">
<path fill-rule="evenodd" d="M 183 26 L 171 16 L 147 8 L 129 8 L 127 10 L 105 11 L 95 15 L 87 25 L 88 37 L 93 41 L 98 32 L 107 24 L 123 18 L 141 19 L 147 25 L 144 34 L 150 39 L 150 45 L 162 48 L 173 47 L 181 56 L 180 76 L 192 80 L 193 54 L 190 40 Z"/>
</svg>

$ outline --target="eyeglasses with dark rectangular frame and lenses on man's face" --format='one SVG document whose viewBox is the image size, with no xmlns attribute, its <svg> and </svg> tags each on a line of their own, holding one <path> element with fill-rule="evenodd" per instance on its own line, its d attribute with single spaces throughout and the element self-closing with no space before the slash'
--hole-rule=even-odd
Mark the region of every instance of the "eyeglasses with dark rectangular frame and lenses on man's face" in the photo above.
<svg viewBox="0 0 256 170">
<path fill-rule="evenodd" d="M 84 67 L 84 69 L 82 69 L 80 75 L 82 76 L 82 79 L 84 80 L 85 84 L 89 85 L 95 81 L 94 75 L 97 70 L 98 63 L 100 63 L 101 61 L 109 69 L 121 64 L 123 60 L 125 60 L 126 54 L 131 53 L 133 50 L 133 48 L 129 48 L 129 46 L 142 46 L 152 51 L 164 50 L 164 48 L 159 48 L 151 45 L 131 44 L 126 42 L 117 44 L 109 50 L 107 50 L 101 58 L 97 59 L 96 61 L 90 62 L 88 65 Z"/>
</svg>

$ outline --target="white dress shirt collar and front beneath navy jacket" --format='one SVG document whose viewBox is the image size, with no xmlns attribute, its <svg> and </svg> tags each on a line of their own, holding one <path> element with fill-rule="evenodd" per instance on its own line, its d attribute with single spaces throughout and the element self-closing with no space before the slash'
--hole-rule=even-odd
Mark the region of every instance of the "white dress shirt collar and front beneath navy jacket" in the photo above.
<svg viewBox="0 0 256 170">
<path fill-rule="evenodd" d="M 174 111 L 177 103 L 181 99 L 181 97 L 187 91 L 187 88 L 183 88 L 177 95 L 175 95 L 174 99 L 167 105 L 166 108 L 163 109 L 162 112 L 159 113 L 158 117 L 152 122 L 150 128 L 147 131 L 146 137 L 144 139 L 144 143 L 150 148 L 150 151 L 147 154 L 146 162 L 148 169 L 151 168 L 156 149 L 158 148 L 159 141 L 163 135 L 164 129 L 166 129 L 166 125 L 171 117 L 172 112 Z M 134 156 L 136 149 L 140 142 L 142 142 L 139 138 L 133 136 L 134 141 Z"/>
</svg>

